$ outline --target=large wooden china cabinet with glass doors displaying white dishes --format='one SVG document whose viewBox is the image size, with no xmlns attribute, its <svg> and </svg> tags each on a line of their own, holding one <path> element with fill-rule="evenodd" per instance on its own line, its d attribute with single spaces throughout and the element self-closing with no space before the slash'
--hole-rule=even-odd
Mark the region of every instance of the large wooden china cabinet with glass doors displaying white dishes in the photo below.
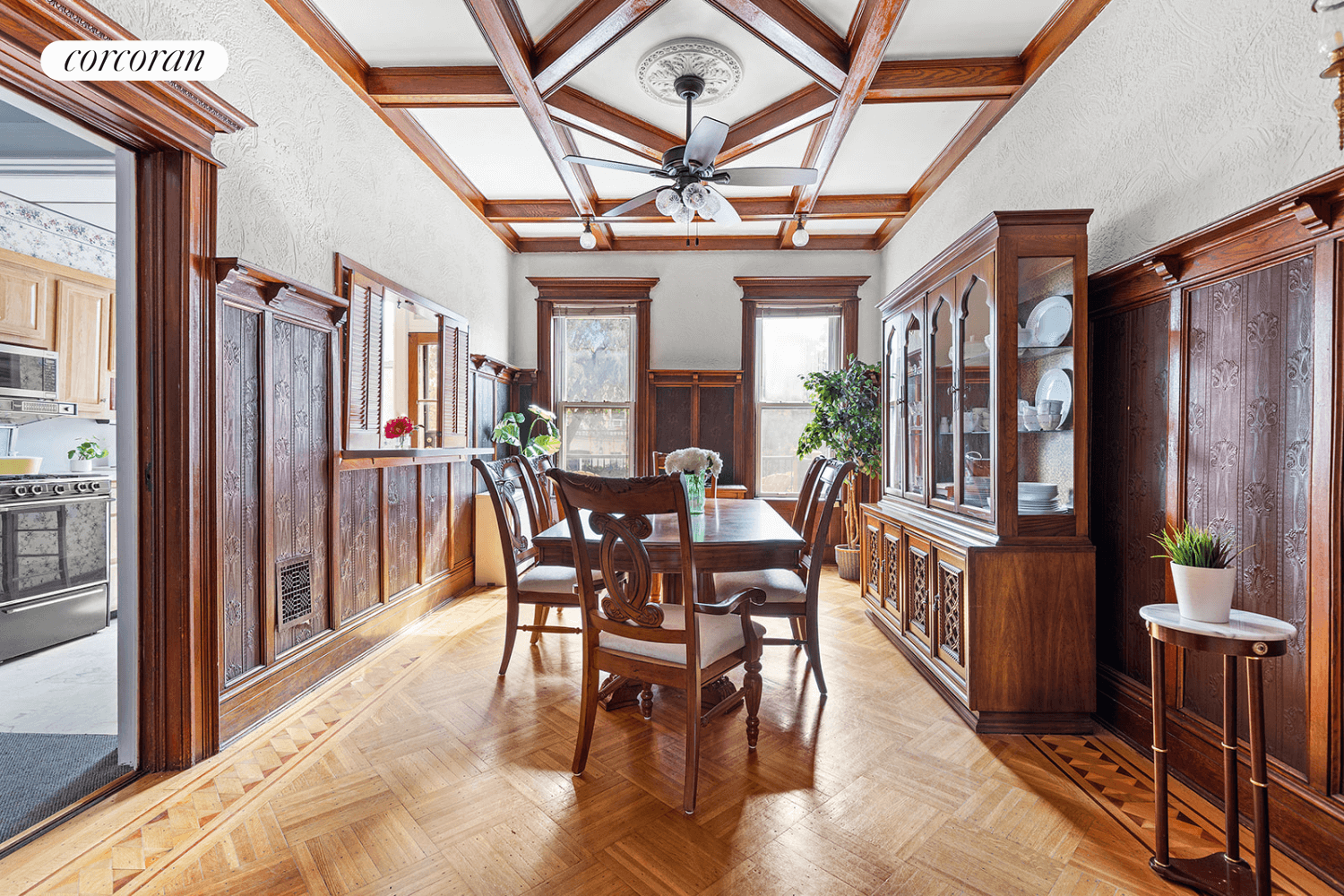
<svg viewBox="0 0 1344 896">
<path fill-rule="evenodd" d="M 1090 215 L 993 212 L 879 306 L 863 594 L 976 731 L 1091 729 Z"/>
</svg>

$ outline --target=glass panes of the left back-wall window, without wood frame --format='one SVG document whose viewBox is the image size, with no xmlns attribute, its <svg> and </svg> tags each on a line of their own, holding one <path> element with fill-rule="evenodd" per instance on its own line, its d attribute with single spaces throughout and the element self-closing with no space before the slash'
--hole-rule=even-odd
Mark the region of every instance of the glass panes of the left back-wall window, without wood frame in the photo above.
<svg viewBox="0 0 1344 896">
<path fill-rule="evenodd" d="M 634 314 L 554 320 L 560 466 L 598 476 L 632 476 Z"/>
</svg>

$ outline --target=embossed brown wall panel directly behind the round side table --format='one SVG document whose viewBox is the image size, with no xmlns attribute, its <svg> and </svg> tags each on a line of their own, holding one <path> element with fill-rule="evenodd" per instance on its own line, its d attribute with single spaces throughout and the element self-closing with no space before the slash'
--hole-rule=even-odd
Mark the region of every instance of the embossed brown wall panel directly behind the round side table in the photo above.
<svg viewBox="0 0 1344 896">
<path fill-rule="evenodd" d="M 1189 294 L 1184 470 L 1187 517 L 1249 545 L 1236 560 L 1234 606 L 1298 627 L 1288 656 L 1265 664 L 1266 746 L 1298 770 L 1306 767 L 1312 278 L 1304 257 Z M 1184 705 L 1220 720 L 1220 682 L 1216 656 L 1189 654 Z"/>
</svg>

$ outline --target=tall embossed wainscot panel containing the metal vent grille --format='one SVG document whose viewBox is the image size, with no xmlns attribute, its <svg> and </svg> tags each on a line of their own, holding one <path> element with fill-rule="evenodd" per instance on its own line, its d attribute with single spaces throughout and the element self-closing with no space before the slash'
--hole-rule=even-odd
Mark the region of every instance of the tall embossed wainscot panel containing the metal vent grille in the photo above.
<svg viewBox="0 0 1344 896">
<path fill-rule="evenodd" d="M 329 463 L 328 377 L 331 334 L 285 320 L 273 324 L 271 344 L 271 477 L 274 562 L 284 567 L 310 556 L 310 611 L 278 625 L 276 653 L 284 653 L 329 627 L 328 513 Z M 274 576 L 276 571 L 269 570 Z M 277 609 L 276 618 L 280 619 Z"/>
</svg>

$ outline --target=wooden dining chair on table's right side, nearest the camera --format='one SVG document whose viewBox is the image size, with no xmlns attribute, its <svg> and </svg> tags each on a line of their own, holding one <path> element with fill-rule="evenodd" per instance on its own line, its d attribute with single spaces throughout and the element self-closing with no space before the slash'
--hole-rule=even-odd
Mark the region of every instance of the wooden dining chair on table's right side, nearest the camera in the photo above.
<svg viewBox="0 0 1344 896">
<path fill-rule="evenodd" d="M 823 461 L 817 466 L 812 496 L 806 498 L 800 535 L 808 537 L 798 570 L 754 570 L 750 572 L 719 572 L 714 576 L 715 591 L 734 594 L 743 588 L 765 591 L 765 606 L 753 607 L 755 617 L 789 619 L 792 638 L 766 638 L 765 643 L 786 643 L 808 652 L 808 660 L 817 676 L 817 690 L 827 692 L 827 678 L 821 672 L 821 642 L 818 629 L 818 590 L 821 587 L 821 560 L 827 553 L 831 514 L 845 478 L 853 470 L 853 461 Z"/>
</svg>

